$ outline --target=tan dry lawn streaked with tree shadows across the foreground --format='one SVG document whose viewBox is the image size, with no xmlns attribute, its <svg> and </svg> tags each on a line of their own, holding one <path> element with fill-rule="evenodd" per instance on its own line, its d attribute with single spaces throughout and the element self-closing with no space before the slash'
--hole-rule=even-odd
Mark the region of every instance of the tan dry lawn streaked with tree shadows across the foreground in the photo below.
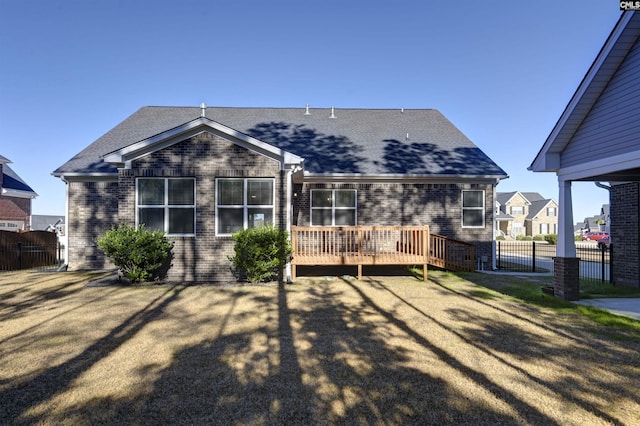
<svg viewBox="0 0 640 426">
<path fill-rule="evenodd" d="M 278 286 L 0 275 L 0 419 L 633 424 L 640 344 L 433 272 Z"/>
</svg>

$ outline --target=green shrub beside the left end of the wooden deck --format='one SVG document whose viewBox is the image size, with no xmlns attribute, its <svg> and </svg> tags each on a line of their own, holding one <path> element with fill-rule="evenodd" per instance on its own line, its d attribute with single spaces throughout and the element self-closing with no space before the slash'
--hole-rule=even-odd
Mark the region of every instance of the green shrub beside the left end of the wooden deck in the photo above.
<svg viewBox="0 0 640 426">
<path fill-rule="evenodd" d="M 272 280 L 291 255 L 286 231 L 273 226 L 244 229 L 233 234 L 235 256 L 229 260 L 250 283 Z"/>
</svg>

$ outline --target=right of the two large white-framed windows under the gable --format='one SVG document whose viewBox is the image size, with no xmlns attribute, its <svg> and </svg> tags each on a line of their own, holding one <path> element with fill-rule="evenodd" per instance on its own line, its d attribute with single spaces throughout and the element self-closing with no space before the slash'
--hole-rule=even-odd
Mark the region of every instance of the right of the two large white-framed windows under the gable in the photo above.
<svg viewBox="0 0 640 426">
<path fill-rule="evenodd" d="M 217 235 L 273 225 L 273 179 L 218 179 L 216 194 Z"/>
</svg>

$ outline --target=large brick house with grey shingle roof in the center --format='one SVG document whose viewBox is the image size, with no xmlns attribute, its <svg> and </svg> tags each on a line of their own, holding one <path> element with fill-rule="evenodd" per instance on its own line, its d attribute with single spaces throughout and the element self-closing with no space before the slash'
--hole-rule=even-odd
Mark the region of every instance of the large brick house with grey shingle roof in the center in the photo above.
<svg viewBox="0 0 640 426">
<path fill-rule="evenodd" d="M 227 281 L 234 232 L 429 225 L 493 254 L 506 173 L 437 110 L 143 107 L 54 171 L 70 269 L 118 223 L 164 230 L 169 279 Z"/>
</svg>

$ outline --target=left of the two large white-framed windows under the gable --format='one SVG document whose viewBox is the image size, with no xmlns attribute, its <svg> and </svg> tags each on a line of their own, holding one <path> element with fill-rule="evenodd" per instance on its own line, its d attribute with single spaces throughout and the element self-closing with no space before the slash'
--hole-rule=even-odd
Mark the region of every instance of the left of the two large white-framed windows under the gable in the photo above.
<svg viewBox="0 0 640 426">
<path fill-rule="evenodd" d="M 138 225 L 168 235 L 195 235 L 195 179 L 138 178 L 136 212 Z"/>
</svg>

